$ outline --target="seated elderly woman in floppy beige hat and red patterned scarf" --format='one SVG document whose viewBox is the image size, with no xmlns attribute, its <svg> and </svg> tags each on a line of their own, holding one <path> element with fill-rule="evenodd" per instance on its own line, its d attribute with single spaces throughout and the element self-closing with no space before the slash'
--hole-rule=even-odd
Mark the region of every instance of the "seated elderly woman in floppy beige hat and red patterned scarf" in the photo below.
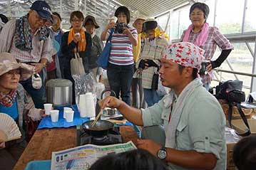
<svg viewBox="0 0 256 170">
<path fill-rule="evenodd" d="M 24 131 L 25 110 L 29 105 L 29 117 L 39 120 L 44 111 L 34 108 L 33 100 L 29 100 L 19 80 L 31 77 L 34 66 L 17 63 L 11 53 L 0 53 L 0 112 L 12 117 L 19 125 L 21 139 L 10 142 L 0 142 L 0 169 L 12 169 L 26 147 Z M 29 102 L 31 101 L 31 102 Z M 1 141 L 1 139 L 0 139 Z"/>
</svg>

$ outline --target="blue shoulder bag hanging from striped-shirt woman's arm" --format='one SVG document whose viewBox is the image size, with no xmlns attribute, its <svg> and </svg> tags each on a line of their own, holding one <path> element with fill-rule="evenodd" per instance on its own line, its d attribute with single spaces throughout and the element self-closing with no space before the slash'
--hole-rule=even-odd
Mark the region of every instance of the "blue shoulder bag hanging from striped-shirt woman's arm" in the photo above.
<svg viewBox="0 0 256 170">
<path fill-rule="evenodd" d="M 114 32 L 114 29 L 111 28 L 111 33 L 109 34 L 108 40 L 106 41 L 106 46 L 103 48 L 101 55 L 99 55 L 98 60 L 96 61 L 98 66 L 105 70 L 108 67 L 108 58 L 109 58 L 109 55 L 111 54 L 111 46 L 112 46 L 111 39 L 113 36 L 113 32 Z"/>
</svg>

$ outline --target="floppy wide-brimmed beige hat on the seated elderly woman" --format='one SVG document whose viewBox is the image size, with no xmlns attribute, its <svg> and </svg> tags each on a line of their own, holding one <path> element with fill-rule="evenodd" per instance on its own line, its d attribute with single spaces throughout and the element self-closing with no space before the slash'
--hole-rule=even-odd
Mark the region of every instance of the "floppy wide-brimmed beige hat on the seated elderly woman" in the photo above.
<svg viewBox="0 0 256 170">
<path fill-rule="evenodd" d="M 27 80 L 31 77 L 34 72 L 35 67 L 32 65 L 27 65 L 24 63 L 17 63 L 14 55 L 11 53 L 0 53 L 0 76 L 10 70 L 15 70 L 17 68 L 21 69 L 21 79 Z"/>
</svg>

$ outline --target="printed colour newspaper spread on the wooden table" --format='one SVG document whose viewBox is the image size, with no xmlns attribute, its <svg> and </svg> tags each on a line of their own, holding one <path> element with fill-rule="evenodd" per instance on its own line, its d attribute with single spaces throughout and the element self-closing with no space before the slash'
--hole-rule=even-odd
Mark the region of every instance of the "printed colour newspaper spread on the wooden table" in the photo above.
<svg viewBox="0 0 256 170">
<path fill-rule="evenodd" d="M 111 144 L 107 146 L 86 144 L 81 147 L 53 152 L 51 155 L 51 170 L 89 169 L 102 156 L 127 152 L 133 149 L 137 148 L 130 141 L 124 144 Z"/>
</svg>

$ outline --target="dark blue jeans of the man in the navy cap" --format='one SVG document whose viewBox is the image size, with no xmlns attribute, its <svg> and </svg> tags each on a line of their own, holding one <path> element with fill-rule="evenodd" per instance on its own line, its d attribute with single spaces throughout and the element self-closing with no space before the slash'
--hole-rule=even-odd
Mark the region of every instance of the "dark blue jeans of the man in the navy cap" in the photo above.
<svg viewBox="0 0 256 170">
<path fill-rule="evenodd" d="M 46 88 L 43 83 L 43 72 L 39 73 L 42 79 L 42 87 L 40 89 L 34 89 L 32 87 L 32 80 L 29 78 L 28 80 L 21 81 L 21 85 L 24 89 L 31 95 L 32 100 L 38 109 L 43 109 L 43 104 L 46 103 Z"/>
</svg>

